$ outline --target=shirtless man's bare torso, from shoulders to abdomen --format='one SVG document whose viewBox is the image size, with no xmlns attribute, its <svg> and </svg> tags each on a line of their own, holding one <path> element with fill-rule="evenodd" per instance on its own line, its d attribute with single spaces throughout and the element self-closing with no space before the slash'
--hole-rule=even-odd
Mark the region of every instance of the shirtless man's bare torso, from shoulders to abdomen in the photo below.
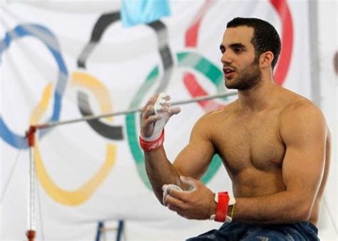
<svg viewBox="0 0 338 241">
<path fill-rule="evenodd" d="M 283 115 L 289 112 L 290 116 L 292 108 L 299 104 L 313 105 L 306 98 L 280 88 L 264 110 L 239 111 L 239 102 L 234 101 L 205 116 L 208 123 L 217 126 L 210 128 L 212 144 L 232 180 L 235 197 L 250 198 L 286 190 L 282 167 L 287 147 L 280 135 L 280 125 L 285 118 Z M 309 218 L 314 225 L 327 180 L 328 159 L 327 156 L 322 183 Z"/>
</svg>

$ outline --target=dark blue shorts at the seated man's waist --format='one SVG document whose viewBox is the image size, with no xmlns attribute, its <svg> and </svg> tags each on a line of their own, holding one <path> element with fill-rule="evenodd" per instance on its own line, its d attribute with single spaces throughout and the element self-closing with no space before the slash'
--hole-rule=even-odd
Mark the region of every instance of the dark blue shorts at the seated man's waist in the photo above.
<svg viewBox="0 0 338 241">
<path fill-rule="evenodd" d="M 247 225 L 241 222 L 224 223 L 219 230 L 210 230 L 188 241 L 315 241 L 318 230 L 311 222 L 297 222 L 290 225 Z"/>
</svg>

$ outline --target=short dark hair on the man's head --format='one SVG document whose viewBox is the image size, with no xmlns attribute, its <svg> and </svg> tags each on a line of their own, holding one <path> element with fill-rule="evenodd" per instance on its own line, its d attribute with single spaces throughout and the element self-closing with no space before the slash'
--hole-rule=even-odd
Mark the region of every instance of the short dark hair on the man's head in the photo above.
<svg viewBox="0 0 338 241">
<path fill-rule="evenodd" d="M 272 60 L 272 69 L 275 68 L 278 57 L 280 56 L 280 36 L 274 26 L 267 21 L 255 18 L 235 18 L 227 23 L 227 28 L 235 28 L 237 26 L 248 26 L 254 29 L 251 39 L 252 45 L 255 47 L 256 57 L 266 51 L 272 51 L 274 59 Z"/>
</svg>

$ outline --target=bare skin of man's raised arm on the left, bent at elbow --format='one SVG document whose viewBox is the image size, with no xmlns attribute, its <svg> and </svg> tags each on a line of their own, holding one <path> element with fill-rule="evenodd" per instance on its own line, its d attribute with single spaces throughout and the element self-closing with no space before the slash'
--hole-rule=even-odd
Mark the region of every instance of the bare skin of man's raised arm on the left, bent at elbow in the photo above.
<svg viewBox="0 0 338 241">
<path fill-rule="evenodd" d="M 160 119 L 154 113 L 154 103 L 156 98 L 151 98 L 143 108 L 142 135 L 150 135 L 153 125 Z M 162 111 L 168 111 L 163 108 Z M 175 184 L 186 190 L 188 185 L 182 183 L 180 175 L 200 178 L 210 164 L 215 149 L 210 140 L 208 120 L 205 116 L 200 118 L 194 125 L 188 145 L 179 153 L 175 162 L 172 164 L 165 155 L 163 146 L 155 150 L 145 151 L 145 170 L 147 171 L 150 184 L 158 200 L 162 203 L 163 190 L 165 184 Z M 148 133 L 148 134 L 147 134 Z M 210 192 L 211 193 L 211 192 Z"/>
</svg>

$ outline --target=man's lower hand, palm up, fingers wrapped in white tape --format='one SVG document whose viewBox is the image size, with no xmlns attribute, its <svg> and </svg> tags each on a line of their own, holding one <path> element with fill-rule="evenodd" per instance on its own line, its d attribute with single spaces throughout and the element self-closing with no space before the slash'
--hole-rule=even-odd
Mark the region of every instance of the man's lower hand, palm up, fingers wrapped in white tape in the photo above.
<svg viewBox="0 0 338 241">
<path fill-rule="evenodd" d="M 215 194 L 203 183 L 193 178 L 180 177 L 182 183 L 194 186 L 193 190 L 179 191 L 170 189 L 165 204 L 178 215 L 197 220 L 207 220 L 215 214 L 217 204 Z"/>
</svg>

